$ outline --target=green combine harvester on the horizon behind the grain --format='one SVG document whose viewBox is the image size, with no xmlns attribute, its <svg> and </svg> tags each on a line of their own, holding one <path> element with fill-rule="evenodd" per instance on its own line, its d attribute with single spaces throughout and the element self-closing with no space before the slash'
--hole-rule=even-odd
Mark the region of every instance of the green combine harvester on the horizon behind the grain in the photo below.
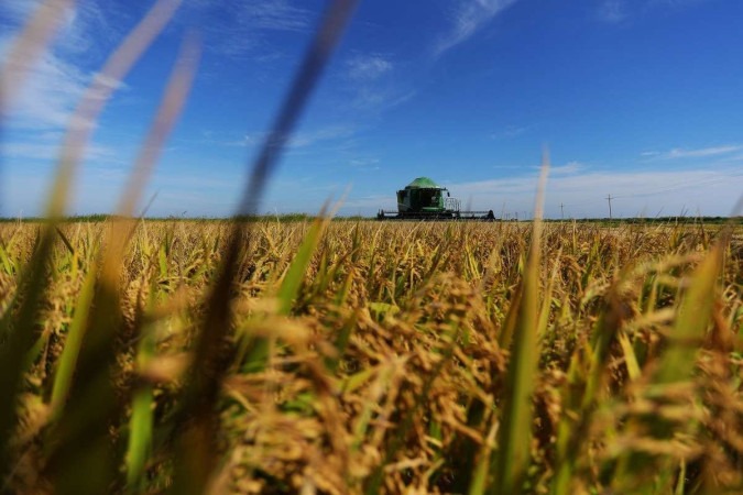
<svg viewBox="0 0 743 495">
<path fill-rule="evenodd" d="M 446 197 L 444 193 L 446 191 Z M 493 221 L 493 210 L 462 211 L 461 201 L 446 187 L 428 177 L 418 177 L 397 191 L 397 211 L 380 210 L 378 220 L 482 220 Z"/>
</svg>

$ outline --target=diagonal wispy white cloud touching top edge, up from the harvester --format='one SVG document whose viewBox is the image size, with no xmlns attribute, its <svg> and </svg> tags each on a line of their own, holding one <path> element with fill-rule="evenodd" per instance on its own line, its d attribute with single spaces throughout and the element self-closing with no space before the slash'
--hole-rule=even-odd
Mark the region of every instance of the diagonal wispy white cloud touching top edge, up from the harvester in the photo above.
<svg viewBox="0 0 743 495">
<path fill-rule="evenodd" d="M 499 13 L 517 0 L 459 0 L 451 13 L 451 25 L 434 47 L 434 55 L 440 56 L 452 47 L 466 42 Z"/>
</svg>

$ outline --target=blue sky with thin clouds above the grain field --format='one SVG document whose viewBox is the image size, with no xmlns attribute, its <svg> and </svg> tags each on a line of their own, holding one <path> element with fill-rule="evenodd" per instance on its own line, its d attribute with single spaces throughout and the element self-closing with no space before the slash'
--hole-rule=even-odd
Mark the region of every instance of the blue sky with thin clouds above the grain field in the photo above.
<svg viewBox="0 0 743 495">
<path fill-rule="evenodd" d="M 39 4 L 0 3 L 0 55 Z M 151 2 L 80 0 L 6 108 L 0 215 L 43 211 L 85 87 Z M 187 32 L 201 58 L 143 202 L 229 216 L 326 3 L 185 0 L 108 102 L 69 213 L 117 205 Z M 429 176 L 473 209 L 528 217 L 730 215 L 743 194 L 740 0 L 367 0 L 261 207 L 395 208 Z M 562 207 L 560 208 L 560 205 Z"/>
</svg>

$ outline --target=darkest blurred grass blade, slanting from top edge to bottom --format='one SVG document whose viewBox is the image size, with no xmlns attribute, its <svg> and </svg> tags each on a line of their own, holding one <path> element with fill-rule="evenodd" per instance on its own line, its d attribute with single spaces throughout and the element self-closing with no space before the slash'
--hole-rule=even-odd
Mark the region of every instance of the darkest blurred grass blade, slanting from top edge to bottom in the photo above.
<svg viewBox="0 0 743 495">
<path fill-rule="evenodd" d="M 323 18 L 272 130 L 253 164 L 238 208 L 238 217 L 250 217 L 258 212 L 267 179 L 277 165 L 281 152 L 291 138 L 354 7 L 354 0 L 335 0 Z M 194 362 L 183 392 L 178 422 L 183 424 L 186 418 L 192 420 L 179 438 L 179 447 L 175 452 L 172 493 L 203 493 L 216 465 L 215 406 L 221 377 L 228 365 L 225 353 L 229 352 L 226 338 L 232 327 L 231 301 L 234 297 L 232 285 L 239 270 L 241 252 L 245 248 L 242 228 L 242 222 L 236 222 L 232 228 L 221 271 L 209 295 L 207 315 L 194 349 Z"/>
</svg>

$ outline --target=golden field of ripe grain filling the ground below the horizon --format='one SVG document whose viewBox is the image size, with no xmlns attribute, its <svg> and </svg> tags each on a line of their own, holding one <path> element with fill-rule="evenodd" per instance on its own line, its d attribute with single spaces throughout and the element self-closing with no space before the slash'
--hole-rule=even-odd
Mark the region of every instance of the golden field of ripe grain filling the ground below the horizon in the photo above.
<svg viewBox="0 0 743 495">
<path fill-rule="evenodd" d="M 0 240 L 2 492 L 743 491 L 740 229 Z"/>
</svg>

